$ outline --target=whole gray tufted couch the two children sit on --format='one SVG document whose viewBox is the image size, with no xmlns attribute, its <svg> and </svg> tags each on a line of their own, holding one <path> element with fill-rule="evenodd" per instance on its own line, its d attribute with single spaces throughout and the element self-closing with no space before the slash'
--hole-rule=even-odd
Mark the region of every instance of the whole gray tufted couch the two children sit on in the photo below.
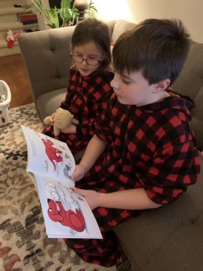
<svg viewBox="0 0 203 271">
<path fill-rule="evenodd" d="M 122 20 L 107 23 L 114 42 L 134 25 Z M 55 112 L 65 97 L 73 30 L 37 31 L 18 38 L 40 120 Z M 173 88 L 196 103 L 192 125 L 198 149 L 203 151 L 203 44 L 191 43 L 189 57 Z M 145 211 L 114 231 L 136 271 L 202 271 L 203 174 L 172 205 Z"/>
</svg>

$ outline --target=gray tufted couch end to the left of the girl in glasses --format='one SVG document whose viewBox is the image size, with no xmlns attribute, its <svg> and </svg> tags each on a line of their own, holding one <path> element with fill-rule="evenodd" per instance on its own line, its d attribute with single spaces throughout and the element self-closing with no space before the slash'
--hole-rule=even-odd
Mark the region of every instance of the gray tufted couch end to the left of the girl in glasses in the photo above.
<svg viewBox="0 0 203 271">
<path fill-rule="evenodd" d="M 74 28 L 31 32 L 18 39 L 41 121 L 54 113 L 65 98 L 71 65 L 70 39 Z"/>
</svg>

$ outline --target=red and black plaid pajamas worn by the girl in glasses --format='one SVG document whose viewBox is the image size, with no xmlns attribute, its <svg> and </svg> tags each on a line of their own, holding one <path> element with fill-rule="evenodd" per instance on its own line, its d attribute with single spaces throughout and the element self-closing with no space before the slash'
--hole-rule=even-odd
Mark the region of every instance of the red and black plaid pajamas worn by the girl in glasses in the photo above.
<svg viewBox="0 0 203 271">
<path fill-rule="evenodd" d="M 43 134 L 66 142 L 72 153 L 84 150 L 94 135 L 94 120 L 102 113 L 113 93 L 110 82 L 114 74 L 108 69 L 98 68 L 90 75 L 83 77 L 75 65 L 70 69 L 70 78 L 65 101 L 59 107 L 69 110 L 80 124 L 76 134 L 60 133 L 54 135 L 53 126 L 48 126 Z"/>
</svg>

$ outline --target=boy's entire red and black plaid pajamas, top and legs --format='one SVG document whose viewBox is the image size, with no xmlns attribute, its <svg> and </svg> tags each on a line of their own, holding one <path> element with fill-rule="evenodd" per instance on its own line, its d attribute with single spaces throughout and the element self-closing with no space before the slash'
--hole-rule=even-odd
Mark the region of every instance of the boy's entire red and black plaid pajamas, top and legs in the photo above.
<svg viewBox="0 0 203 271">
<path fill-rule="evenodd" d="M 200 174 L 200 158 L 190 126 L 186 96 L 171 94 L 159 102 L 136 107 L 117 101 L 115 93 L 97 119 L 96 135 L 108 143 L 103 155 L 76 186 L 110 193 L 143 187 L 157 204 L 171 204 Z M 123 200 L 123 199 L 122 199 Z M 66 239 L 87 262 L 113 266 L 121 247 L 111 228 L 142 211 L 96 208 L 103 240 Z"/>
</svg>

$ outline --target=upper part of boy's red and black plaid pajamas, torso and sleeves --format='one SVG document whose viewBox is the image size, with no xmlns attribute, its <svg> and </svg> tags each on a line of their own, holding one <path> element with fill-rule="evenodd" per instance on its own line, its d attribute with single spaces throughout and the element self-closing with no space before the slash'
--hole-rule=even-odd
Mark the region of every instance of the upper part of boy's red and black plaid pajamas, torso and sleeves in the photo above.
<svg viewBox="0 0 203 271">
<path fill-rule="evenodd" d="M 108 143 L 99 161 L 106 177 L 129 189 L 144 187 L 157 204 L 172 203 L 200 174 L 190 126 L 189 109 L 195 105 L 187 96 L 168 93 L 170 97 L 138 108 L 120 104 L 114 93 L 95 132 Z"/>
</svg>

